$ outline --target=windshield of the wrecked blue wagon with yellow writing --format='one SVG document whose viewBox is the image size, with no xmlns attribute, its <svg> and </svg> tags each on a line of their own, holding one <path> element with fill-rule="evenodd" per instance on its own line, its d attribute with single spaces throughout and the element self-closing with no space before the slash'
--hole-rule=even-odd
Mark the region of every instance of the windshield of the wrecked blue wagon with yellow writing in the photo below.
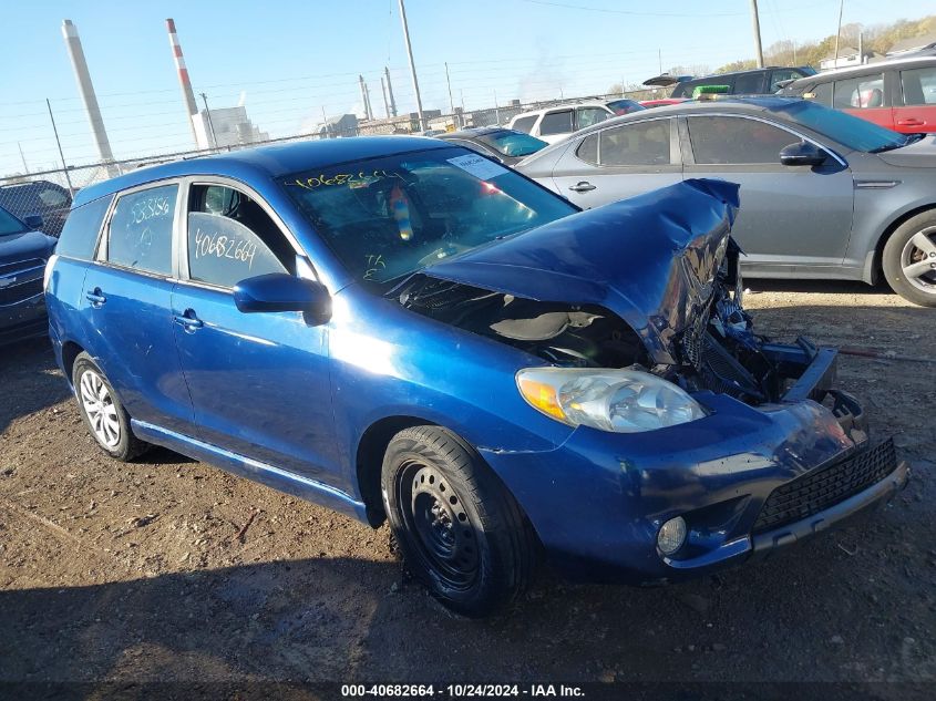
<svg viewBox="0 0 936 701">
<path fill-rule="evenodd" d="M 281 184 L 351 275 L 371 284 L 578 212 L 460 147 L 346 163 Z"/>
</svg>

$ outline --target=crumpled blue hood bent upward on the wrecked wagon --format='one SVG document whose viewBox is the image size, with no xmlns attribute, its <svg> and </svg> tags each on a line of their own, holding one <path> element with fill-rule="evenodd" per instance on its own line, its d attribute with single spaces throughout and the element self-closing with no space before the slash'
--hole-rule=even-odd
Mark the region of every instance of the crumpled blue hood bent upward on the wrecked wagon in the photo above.
<svg viewBox="0 0 936 701">
<path fill-rule="evenodd" d="M 424 275 L 547 302 L 599 305 L 673 363 L 728 248 L 738 185 L 688 179 L 440 261 Z"/>
</svg>

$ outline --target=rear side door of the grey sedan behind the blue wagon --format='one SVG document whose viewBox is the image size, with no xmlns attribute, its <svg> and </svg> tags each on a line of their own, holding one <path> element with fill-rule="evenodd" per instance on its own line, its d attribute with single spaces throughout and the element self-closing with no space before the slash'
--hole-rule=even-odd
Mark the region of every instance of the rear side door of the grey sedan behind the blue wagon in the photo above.
<svg viewBox="0 0 936 701">
<path fill-rule="evenodd" d="M 676 120 L 641 120 L 593 132 L 553 169 L 555 189 L 584 209 L 682 179 Z"/>
</svg>

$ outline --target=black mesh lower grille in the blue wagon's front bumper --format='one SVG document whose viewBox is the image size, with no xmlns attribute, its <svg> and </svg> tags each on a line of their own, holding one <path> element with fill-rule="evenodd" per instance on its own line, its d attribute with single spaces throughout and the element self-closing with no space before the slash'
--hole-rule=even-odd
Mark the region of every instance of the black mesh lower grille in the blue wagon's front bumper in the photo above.
<svg viewBox="0 0 936 701">
<path fill-rule="evenodd" d="M 894 441 L 887 439 L 853 457 L 820 467 L 776 487 L 754 522 L 754 533 L 802 520 L 881 482 L 897 466 Z"/>
</svg>

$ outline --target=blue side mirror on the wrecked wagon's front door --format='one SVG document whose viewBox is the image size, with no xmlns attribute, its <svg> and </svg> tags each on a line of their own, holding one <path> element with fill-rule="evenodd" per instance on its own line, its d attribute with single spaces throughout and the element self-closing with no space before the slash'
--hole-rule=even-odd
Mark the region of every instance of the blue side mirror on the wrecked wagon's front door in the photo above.
<svg viewBox="0 0 936 701">
<path fill-rule="evenodd" d="M 244 313 L 301 311 L 313 326 L 331 318 L 331 297 L 325 285 L 285 272 L 240 280 L 234 286 L 234 303 Z"/>
</svg>

